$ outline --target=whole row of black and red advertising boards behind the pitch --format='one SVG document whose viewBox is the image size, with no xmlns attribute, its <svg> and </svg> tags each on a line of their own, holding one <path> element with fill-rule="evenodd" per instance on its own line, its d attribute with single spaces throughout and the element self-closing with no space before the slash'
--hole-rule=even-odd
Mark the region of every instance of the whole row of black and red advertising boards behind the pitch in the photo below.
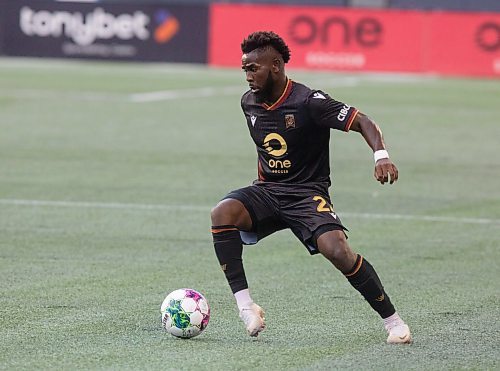
<svg viewBox="0 0 500 371">
<path fill-rule="evenodd" d="M 496 0 L 4 1 L 0 54 L 234 67 L 244 36 L 273 29 L 291 67 L 498 77 L 498 11 Z"/>
</svg>

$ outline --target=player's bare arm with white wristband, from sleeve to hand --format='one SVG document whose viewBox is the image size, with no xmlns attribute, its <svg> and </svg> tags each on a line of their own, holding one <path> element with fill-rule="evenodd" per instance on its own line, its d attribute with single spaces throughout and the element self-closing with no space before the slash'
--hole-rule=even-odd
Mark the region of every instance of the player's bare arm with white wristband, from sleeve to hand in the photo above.
<svg viewBox="0 0 500 371">
<path fill-rule="evenodd" d="M 354 118 L 350 130 L 361 133 L 366 143 L 373 150 L 375 156 L 374 176 L 381 184 L 390 184 L 398 180 L 398 168 L 389 158 L 385 149 L 384 137 L 380 127 L 368 116 L 358 112 Z M 381 152 L 377 152 L 381 151 Z M 385 151 L 385 152 L 384 152 Z"/>
</svg>

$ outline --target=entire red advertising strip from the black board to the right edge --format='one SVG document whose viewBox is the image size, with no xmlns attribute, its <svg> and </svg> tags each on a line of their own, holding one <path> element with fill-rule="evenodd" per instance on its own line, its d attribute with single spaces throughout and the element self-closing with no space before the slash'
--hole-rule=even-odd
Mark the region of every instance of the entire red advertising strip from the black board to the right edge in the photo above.
<svg viewBox="0 0 500 371">
<path fill-rule="evenodd" d="M 272 30 L 291 67 L 500 76 L 500 15 L 331 7 L 211 7 L 209 62 L 237 66 L 240 43 Z"/>
</svg>

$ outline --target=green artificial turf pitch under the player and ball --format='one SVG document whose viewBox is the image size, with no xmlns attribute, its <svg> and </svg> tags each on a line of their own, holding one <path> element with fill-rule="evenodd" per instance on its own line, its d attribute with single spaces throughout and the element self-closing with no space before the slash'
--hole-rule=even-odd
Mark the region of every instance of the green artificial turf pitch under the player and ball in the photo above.
<svg viewBox="0 0 500 371">
<path fill-rule="evenodd" d="M 0 59 L 1 369 L 500 367 L 498 81 L 289 76 L 384 131 L 397 184 L 374 181 L 359 134 L 332 132 L 331 191 L 414 344 L 386 345 L 361 296 L 287 231 L 245 248 L 268 326 L 245 334 L 209 231 L 210 208 L 256 177 L 240 71 Z M 160 91 L 174 98 L 137 101 Z M 160 325 L 181 287 L 212 311 L 190 340 Z"/>
</svg>

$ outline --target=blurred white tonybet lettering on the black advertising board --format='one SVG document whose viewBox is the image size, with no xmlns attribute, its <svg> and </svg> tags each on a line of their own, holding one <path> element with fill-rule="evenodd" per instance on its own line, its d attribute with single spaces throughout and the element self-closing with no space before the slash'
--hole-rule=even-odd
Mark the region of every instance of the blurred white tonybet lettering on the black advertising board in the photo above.
<svg viewBox="0 0 500 371">
<path fill-rule="evenodd" d="M 28 36 L 60 37 L 63 34 L 78 45 L 90 45 L 97 39 L 140 40 L 149 38 L 149 16 L 141 11 L 114 15 L 102 8 L 84 15 L 80 12 L 34 11 L 24 6 L 19 15 L 21 30 Z"/>
</svg>

